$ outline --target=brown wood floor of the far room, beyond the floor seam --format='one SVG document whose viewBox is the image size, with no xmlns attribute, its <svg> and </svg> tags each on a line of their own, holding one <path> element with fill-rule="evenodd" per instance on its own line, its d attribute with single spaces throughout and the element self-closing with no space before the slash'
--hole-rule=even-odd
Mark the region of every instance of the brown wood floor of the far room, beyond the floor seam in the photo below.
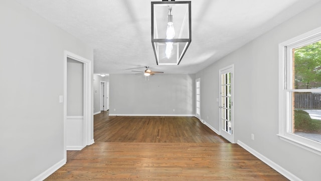
<svg viewBox="0 0 321 181">
<path fill-rule="evenodd" d="M 195 117 L 94 117 L 95 142 L 228 143 Z"/>
</svg>

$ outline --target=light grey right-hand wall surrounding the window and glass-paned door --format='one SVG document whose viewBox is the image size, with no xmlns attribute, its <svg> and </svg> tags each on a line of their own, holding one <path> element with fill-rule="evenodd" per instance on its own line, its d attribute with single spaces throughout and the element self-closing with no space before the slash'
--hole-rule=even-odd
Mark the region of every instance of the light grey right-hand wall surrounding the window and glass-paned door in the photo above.
<svg viewBox="0 0 321 181">
<path fill-rule="evenodd" d="M 234 64 L 235 140 L 280 166 L 291 179 L 320 180 L 321 157 L 279 139 L 278 44 L 321 26 L 321 3 L 196 74 L 201 118 L 219 130 L 219 69 Z M 209 116 L 209 119 L 207 119 Z M 251 140 L 251 133 L 255 140 Z"/>
</svg>

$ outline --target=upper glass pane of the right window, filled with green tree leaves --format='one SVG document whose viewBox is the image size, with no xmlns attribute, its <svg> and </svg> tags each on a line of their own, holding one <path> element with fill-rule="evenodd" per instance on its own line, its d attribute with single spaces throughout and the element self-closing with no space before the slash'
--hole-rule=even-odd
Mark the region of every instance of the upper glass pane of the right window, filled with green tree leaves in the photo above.
<svg viewBox="0 0 321 181">
<path fill-rule="evenodd" d="M 292 89 L 321 88 L 321 41 L 292 49 Z"/>
</svg>

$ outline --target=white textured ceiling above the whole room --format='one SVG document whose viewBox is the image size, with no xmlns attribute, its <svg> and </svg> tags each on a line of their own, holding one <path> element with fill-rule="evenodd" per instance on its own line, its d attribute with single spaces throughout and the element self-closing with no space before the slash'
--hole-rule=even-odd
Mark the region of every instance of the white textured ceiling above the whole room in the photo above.
<svg viewBox="0 0 321 181">
<path fill-rule="evenodd" d="M 16 1 L 93 47 L 94 73 L 196 73 L 320 0 L 192 0 L 192 43 L 180 65 L 156 65 L 151 1 Z"/>
</svg>

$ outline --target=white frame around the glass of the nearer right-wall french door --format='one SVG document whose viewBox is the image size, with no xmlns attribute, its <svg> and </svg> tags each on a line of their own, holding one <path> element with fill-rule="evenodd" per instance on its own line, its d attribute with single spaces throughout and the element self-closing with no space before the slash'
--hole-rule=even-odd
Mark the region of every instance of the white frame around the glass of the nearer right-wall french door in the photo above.
<svg viewBox="0 0 321 181">
<path fill-rule="evenodd" d="M 231 124 L 232 124 L 232 134 L 230 138 L 227 138 L 227 134 L 225 131 L 222 131 L 222 109 L 221 109 L 221 105 L 222 105 L 222 99 L 221 99 L 221 86 L 222 86 L 222 78 L 221 75 L 224 72 L 231 72 Z M 235 133 L 235 127 L 234 127 L 234 122 L 235 122 L 235 118 L 234 118 L 234 64 L 226 66 L 224 68 L 221 68 L 219 70 L 219 133 L 221 136 L 223 136 L 225 139 L 227 139 L 228 141 L 230 141 L 231 143 L 235 143 L 234 142 L 234 133 Z"/>
</svg>

